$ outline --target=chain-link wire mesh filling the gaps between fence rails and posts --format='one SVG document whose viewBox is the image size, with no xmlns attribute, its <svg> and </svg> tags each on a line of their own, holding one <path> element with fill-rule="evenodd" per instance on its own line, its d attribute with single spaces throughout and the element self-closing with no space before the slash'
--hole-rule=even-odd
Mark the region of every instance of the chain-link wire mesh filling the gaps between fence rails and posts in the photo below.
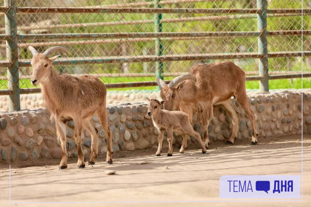
<svg viewBox="0 0 311 207">
<path fill-rule="evenodd" d="M 158 4 L 155 5 L 155 2 Z M 2 4 L 3 6 L 3 4 Z M 197 9 L 257 9 L 257 0 L 25 0 L 17 1 L 16 7 L 75 7 L 75 8 L 197 8 Z M 268 0 L 267 9 L 310 9 L 309 1 Z M 3 13 L 0 19 L 0 34 L 6 34 Z M 73 33 L 152 33 L 159 32 L 155 24 L 154 13 L 17 13 L 17 33 L 24 34 L 73 34 Z M 159 16 L 158 16 L 159 17 Z M 187 73 L 197 62 L 233 61 L 247 75 L 258 74 L 258 26 L 255 13 L 163 13 L 161 15 L 162 32 L 190 32 L 193 36 L 163 37 L 162 43 L 163 76 Z M 303 25 L 302 25 L 303 18 Z M 267 30 L 310 30 L 310 16 L 301 13 L 267 14 Z M 206 36 L 200 32 L 253 32 L 248 36 Z M 159 40 L 159 39 L 158 39 Z M 310 51 L 310 35 L 269 35 L 268 52 Z M 104 83 L 124 83 L 154 81 L 159 68 L 152 56 L 159 55 L 156 50 L 156 38 L 53 38 L 18 39 L 20 88 L 30 88 L 32 69 L 29 65 L 32 57 L 28 46 L 39 52 L 49 47 L 63 46 L 70 51 L 61 60 L 73 63 L 55 64 L 60 73 L 81 75 L 93 74 Z M 0 60 L 7 61 L 6 42 L 0 44 Z M 206 56 L 217 56 L 206 58 Z M 228 56 L 231 55 L 231 56 Z M 219 56 L 222 56 L 221 59 Z M 176 61 L 174 57 L 183 57 Z M 189 59 L 193 57 L 193 59 Z M 245 57 L 245 58 L 243 58 Z M 250 58 L 252 57 L 252 58 Z M 149 61 L 137 61 L 149 58 Z M 168 58 L 168 59 L 167 59 Z M 194 60 L 196 59 L 196 60 Z M 136 61 L 135 61 L 136 60 Z M 150 61 L 151 60 L 151 61 Z M 277 57 L 268 59 L 269 74 L 291 74 L 301 71 L 301 56 Z M 303 58 L 305 71 L 311 70 L 309 56 Z M 7 69 L 0 68 L 0 89 L 8 89 Z"/>
</svg>

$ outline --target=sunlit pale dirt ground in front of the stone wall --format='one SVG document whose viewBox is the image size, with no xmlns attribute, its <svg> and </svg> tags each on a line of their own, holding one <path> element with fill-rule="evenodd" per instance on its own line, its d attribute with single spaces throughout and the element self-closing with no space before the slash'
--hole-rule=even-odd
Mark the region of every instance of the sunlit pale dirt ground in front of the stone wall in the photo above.
<svg viewBox="0 0 311 207">
<path fill-rule="evenodd" d="M 28 204 L 9 203 L 9 165 L 0 163 L 0 206 L 311 206 L 311 135 L 304 135 L 303 141 L 303 201 L 219 199 L 222 175 L 301 176 L 301 135 L 258 141 L 257 146 L 251 146 L 250 140 L 235 145 L 217 142 L 208 154 L 198 148 L 179 154 L 174 148 L 172 157 L 166 156 L 168 149 L 160 157 L 153 148 L 120 152 L 114 154 L 113 165 L 100 158 L 85 169 L 76 169 L 75 159 L 65 170 L 58 170 L 60 160 L 18 163 L 11 166 L 11 202 Z M 106 170 L 117 173 L 106 175 Z"/>
</svg>

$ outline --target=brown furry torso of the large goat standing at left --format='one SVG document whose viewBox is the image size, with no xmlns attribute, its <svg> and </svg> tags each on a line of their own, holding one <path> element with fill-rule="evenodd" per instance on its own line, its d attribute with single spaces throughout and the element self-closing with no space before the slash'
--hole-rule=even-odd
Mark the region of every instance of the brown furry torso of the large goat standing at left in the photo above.
<svg viewBox="0 0 311 207">
<path fill-rule="evenodd" d="M 51 113 L 94 110 L 104 102 L 106 87 L 98 78 L 59 75 L 53 70 L 52 73 L 47 84 L 41 86 L 46 107 Z"/>
</svg>

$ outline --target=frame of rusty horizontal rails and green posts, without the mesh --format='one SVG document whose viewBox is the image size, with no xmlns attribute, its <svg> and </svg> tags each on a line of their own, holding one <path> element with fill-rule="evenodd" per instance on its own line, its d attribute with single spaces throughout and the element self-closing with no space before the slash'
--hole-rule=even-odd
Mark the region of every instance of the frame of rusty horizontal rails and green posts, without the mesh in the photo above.
<svg viewBox="0 0 311 207">
<path fill-rule="evenodd" d="M 207 59 L 259 59 L 259 75 L 247 76 L 246 80 L 259 80 L 260 91 L 269 91 L 269 79 L 286 79 L 311 77 L 311 73 L 305 74 L 274 74 L 269 75 L 268 58 L 311 56 L 310 51 L 302 52 L 268 52 L 267 37 L 273 35 L 310 35 L 311 30 L 287 30 L 267 31 L 267 14 L 273 15 L 309 15 L 311 9 L 267 9 L 267 0 L 257 0 L 257 9 L 196 9 L 196 8 L 162 8 L 160 0 L 154 0 L 154 8 L 84 8 L 84 7 L 16 7 L 16 0 L 4 0 L 4 7 L 0 7 L 0 13 L 5 13 L 5 34 L 0 35 L 0 41 L 6 40 L 7 61 L 1 61 L 0 67 L 8 68 L 8 88 L 0 90 L 0 95 L 9 96 L 9 110 L 20 110 L 20 94 L 38 93 L 40 88 L 19 88 L 18 67 L 30 66 L 30 61 L 18 60 L 18 40 L 51 40 L 51 39 L 103 39 L 103 38 L 155 38 L 156 56 L 116 56 L 116 57 L 81 57 L 61 58 L 55 61 L 55 65 L 77 65 L 93 63 L 132 63 L 132 62 L 156 62 L 157 75 L 163 79 L 164 61 L 186 61 L 186 60 L 207 60 Z M 167 1 L 169 2 L 169 1 Z M 152 2 L 148 2 L 151 4 Z M 155 32 L 153 33 L 83 33 L 83 34 L 17 34 L 17 13 L 154 13 Z M 162 32 L 163 13 L 187 13 L 187 14 L 244 14 L 257 15 L 257 32 Z M 216 18 L 216 17 L 215 17 Z M 174 56 L 163 56 L 163 45 L 161 38 L 206 38 L 206 37 L 258 37 L 258 53 L 209 53 L 209 54 L 184 54 Z M 156 86 L 154 81 L 132 82 L 132 83 L 111 83 L 105 84 L 107 88 L 124 88 L 140 86 Z"/>
</svg>

